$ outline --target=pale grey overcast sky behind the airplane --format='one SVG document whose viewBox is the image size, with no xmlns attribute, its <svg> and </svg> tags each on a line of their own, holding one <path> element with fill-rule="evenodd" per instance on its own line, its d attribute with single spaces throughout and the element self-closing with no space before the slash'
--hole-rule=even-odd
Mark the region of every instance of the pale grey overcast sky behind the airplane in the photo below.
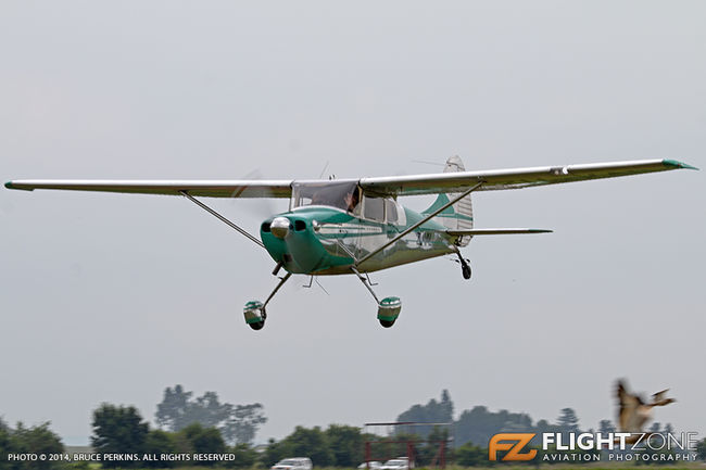
<svg viewBox="0 0 706 470">
<path fill-rule="evenodd" d="M 0 3 L 0 179 L 266 178 L 677 158 L 706 167 L 706 3 Z M 449 389 L 584 429 L 613 383 L 671 388 L 704 432 L 706 191 L 670 172 L 475 196 L 474 279 L 446 258 L 276 283 L 181 198 L 0 190 L 0 416 L 85 444 L 101 403 L 166 386 L 260 402 L 259 441 L 392 420 Z M 286 203 L 207 201 L 256 232 Z M 408 199 L 424 208 L 426 201 Z"/>
</svg>

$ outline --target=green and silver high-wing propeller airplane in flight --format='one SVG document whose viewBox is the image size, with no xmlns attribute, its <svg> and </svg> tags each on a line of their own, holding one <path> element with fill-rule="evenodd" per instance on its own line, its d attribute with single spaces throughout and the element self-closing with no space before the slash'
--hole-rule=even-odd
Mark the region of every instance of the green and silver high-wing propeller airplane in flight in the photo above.
<svg viewBox="0 0 706 470">
<path fill-rule="evenodd" d="M 673 160 L 644 160 L 466 172 L 461 158 L 452 156 L 443 173 L 430 175 L 332 180 L 15 180 L 5 187 L 184 195 L 264 247 L 276 263 L 274 276 L 285 269 L 285 276 L 264 303 L 245 304 L 245 322 L 253 330 L 264 327 L 267 304 L 292 274 L 356 276 L 378 305 L 380 325 L 390 328 L 400 315 L 402 302 L 394 296 L 379 300 L 368 272 L 455 254 L 463 277 L 469 279 L 469 262 L 459 247 L 466 246 L 472 237 L 551 231 L 474 228 L 471 192 L 678 168 L 696 169 Z M 416 194 L 438 198 L 421 213 L 398 202 L 399 196 Z M 197 196 L 289 198 L 290 203 L 289 211 L 262 223 L 259 240 Z"/>
</svg>

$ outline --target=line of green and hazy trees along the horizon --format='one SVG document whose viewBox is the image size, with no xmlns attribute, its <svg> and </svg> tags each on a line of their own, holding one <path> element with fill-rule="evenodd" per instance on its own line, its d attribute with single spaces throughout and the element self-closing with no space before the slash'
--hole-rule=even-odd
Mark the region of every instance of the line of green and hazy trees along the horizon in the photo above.
<svg viewBox="0 0 706 470">
<path fill-rule="evenodd" d="M 167 388 L 155 412 L 156 427 L 151 427 L 134 406 L 101 404 L 92 412 L 91 445 L 99 454 L 136 454 L 148 456 L 184 456 L 192 454 L 229 454 L 226 462 L 199 462 L 218 468 L 268 468 L 287 457 L 310 457 L 316 467 L 355 468 L 365 459 L 369 442 L 373 459 L 384 460 L 406 455 L 411 445 L 417 467 L 438 463 L 439 443 L 447 446 L 446 461 L 458 466 L 489 466 L 487 445 L 499 432 L 581 432 L 579 418 L 571 408 L 562 409 L 555 423 L 533 423 L 527 414 L 507 410 L 490 411 L 476 406 L 453 419 L 454 405 L 447 391 L 441 399 L 414 405 L 398 421 L 449 423 L 447 425 L 398 427 L 389 436 L 367 433 L 345 424 L 297 427 L 282 440 L 270 439 L 266 445 L 254 446 L 259 427 L 266 422 L 261 404 L 231 405 L 220 403 L 215 392 L 194 397 L 181 385 Z M 593 430 L 588 430 L 592 432 Z M 614 432 L 610 420 L 602 420 L 600 432 Z M 651 432 L 670 432 L 654 423 Z M 407 444 L 412 442 L 413 444 Z M 9 454 L 61 454 L 64 446 L 49 423 L 14 428 L 0 419 L 0 470 L 88 469 L 87 462 L 10 461 Z M 696 449 L 706 459 L 706 439 Z M 540 452 L 541 454 L 541 452 Z M 153 461 L 103 461 L 103 468 L 174 468 L 193 466 L 190 460 L 155 459 Z"/>
</svg>

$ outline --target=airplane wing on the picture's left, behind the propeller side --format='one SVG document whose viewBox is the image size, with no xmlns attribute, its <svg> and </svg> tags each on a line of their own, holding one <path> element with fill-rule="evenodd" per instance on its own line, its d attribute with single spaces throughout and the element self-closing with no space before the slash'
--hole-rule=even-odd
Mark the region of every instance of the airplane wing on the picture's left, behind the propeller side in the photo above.
<svg viewBox="0 0 706 470">
<path fill-rule="evenodd" d="M 181 195 L 181 191 L 194 196 L 211 198 L 289 198 L 291 180 L 14 180 L 9 189 L 65 189 L 76 191 L 127 192 L 141 194 Z"/>
</svg>

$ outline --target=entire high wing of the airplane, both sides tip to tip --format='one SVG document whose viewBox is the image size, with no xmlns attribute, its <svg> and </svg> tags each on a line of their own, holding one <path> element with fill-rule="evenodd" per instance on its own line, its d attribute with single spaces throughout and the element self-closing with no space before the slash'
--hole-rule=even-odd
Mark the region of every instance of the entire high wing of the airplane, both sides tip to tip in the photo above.
<svg viewBox="0 0 706 470">
<path fill-rule="evenodd" d="M 429 175 L 391 176 L 339 181 L 358 181 L 365 191 L 387 195 L 438 194 L 461 192 L 482 182 L 481 191 L 529 188 L 590 179 L 614 178 L 642 173 L 693 168 L 673 160 L 642 160 L 614 163 L 592 163 L 567 166 L 457 172 Z M 325 183 L 328 180 L 318 180 Z M 293 180 L 13 180 L 9 189 L 60 189 L 141 194 L 210 198 L 289 198 Z M 305 180 L 302 182 L 317 182 Z"/>
</svg>

